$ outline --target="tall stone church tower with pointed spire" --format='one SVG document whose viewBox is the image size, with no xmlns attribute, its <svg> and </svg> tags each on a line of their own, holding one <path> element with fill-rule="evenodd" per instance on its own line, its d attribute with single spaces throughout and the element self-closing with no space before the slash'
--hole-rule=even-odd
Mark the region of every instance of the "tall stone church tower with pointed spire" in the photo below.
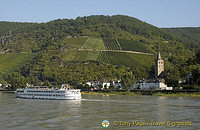
<svg viewBox="0 0 200 130">
<path fill-rule="evenodd" d="M 164 72 L 164 61 L 161 59 L 160 52 L 155 60 L 155 79 L 159 79 L 160 75 Z"/>
</svg>

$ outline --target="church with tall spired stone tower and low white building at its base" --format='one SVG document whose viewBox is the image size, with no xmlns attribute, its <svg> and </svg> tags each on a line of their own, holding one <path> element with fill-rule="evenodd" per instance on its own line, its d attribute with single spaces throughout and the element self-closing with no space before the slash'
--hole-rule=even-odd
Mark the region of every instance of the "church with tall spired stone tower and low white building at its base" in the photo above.
<svg viewBox="0 0 200 130">
<path fill-rule="evenodd" d="M 172 87 L 167 87 L 164 83 L 164 72 L 164 60 L 159 52 L 155 59 L 155 79 L 140 80 L 137 82 L 137 86 L 140 89 L 172 90 Z"/>
</svg>

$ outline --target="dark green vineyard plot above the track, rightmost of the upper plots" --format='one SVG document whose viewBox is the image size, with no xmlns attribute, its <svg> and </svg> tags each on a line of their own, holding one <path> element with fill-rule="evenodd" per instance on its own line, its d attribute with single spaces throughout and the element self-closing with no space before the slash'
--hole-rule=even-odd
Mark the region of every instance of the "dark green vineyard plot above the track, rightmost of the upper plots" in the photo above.
<svg viewBox="0 0 200 130">
<path fill-rule="evenodd" d="M 142 43 L 135 41 L 135 40 L 124 40 L 119 39 L 119 44 L 122 48 L 122 50 L 126 51 L 138 51 L 138 52 L 150 52 L 145 46 L 142 45 Z"/>
</svg>

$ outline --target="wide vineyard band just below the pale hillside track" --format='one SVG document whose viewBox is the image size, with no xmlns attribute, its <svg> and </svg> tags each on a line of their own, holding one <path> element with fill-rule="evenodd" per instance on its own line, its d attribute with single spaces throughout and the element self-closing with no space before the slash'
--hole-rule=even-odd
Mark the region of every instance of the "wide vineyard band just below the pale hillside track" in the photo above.
<svg viewBox="0 0 200 130">
<path fill-rule="evenodd" d="M 125 66 L 143 66 L 149 67 L 154 63 L 155 57 L 152 55 L 142 55 L 124 52 L 108 51 L 80 51 L 73 50 L 65 54 L 65 61 L 98 61 L 100 63 L 125 65 Z"/>
</svg>

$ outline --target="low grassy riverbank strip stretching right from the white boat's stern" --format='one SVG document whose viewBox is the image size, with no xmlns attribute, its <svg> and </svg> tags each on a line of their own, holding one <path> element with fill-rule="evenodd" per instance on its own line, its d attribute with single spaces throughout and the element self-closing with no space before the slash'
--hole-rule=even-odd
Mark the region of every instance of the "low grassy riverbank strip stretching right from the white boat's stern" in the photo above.
<svg viewBox="0 0 200 130">
<path fill-rule="evenodd" d="M 193 92 L 193 93 L 162 93 L 162 92 L 95 92 L 95 91 L 83 91 L 81 92 L 82 95 L 131 95 L 131 96 L 140 96 L 140 95 L 151 95 L 151 96 L 168 96 L 168 97 L 200 97 L 200 92 Z"/>
</svg>

